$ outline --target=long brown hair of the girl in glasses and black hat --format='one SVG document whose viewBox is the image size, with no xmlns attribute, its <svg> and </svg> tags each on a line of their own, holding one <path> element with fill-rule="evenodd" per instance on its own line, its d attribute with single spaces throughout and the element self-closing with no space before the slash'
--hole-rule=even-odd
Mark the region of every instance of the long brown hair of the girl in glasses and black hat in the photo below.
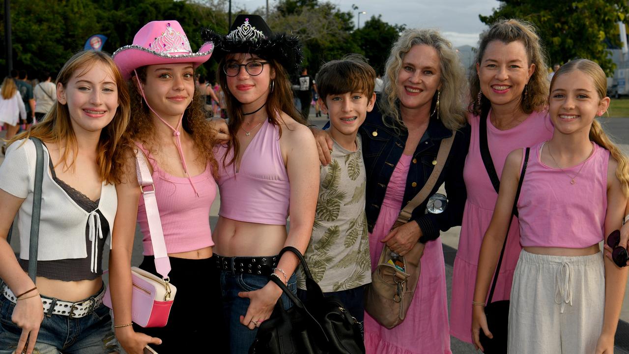
<svg viewBox="0 0 629 354">
<path fill-rule="evenodd" d="M 243 122 L 243 112 L 242 112 L 242 103 L 238 101 L 233 94 L 230 93 L 229 88 L 227 87 L 227 75 L 223 71 L 223 66 L 225 66 L 226 61 L 229 59 L 233 59 L 233 55 L 248 55 L 248 54 L 232 54 L 226 55 L 221 59 L 218 63 L 218 81 L 221 84 L 221 88 L 223 92 L 225 92 L 225 101 L 227 103 L 227 115 L 229 117 L 228 127 L 230 128 L 230 137 L 231 139 L 227 142 L 227 151 L 233 149 L 234 154 L 231 158 L 231 161 L 225 161 L 227 154 L 223 156 L 223 167 L 229 166 L 236 161 L 236 157 L 238 156 L 238 152 L 240 151 L 240 144 L 238 144 L 238 139 L 236 134 L 238 129 Z M 260 55 L 261 59 L 269 62 L 270 68 L 275 70 L 276 77 L 269 81 L 270 85 L 273 85 L 273 89 L 269 91 L 269 96 L 267 97 L 267 104 L 264 106 L 265 111 L 267 111 L 267 116 L 269 117 L 269 122 L 273 125 L 277 125 L 279 127 L 279 134 L 282 135 L 282 126 L 280 124 L 281 117 L 278 115 L 278 112 L 284 112 L 289 115 L 296 122 L 304 124 L 304 119 L 301 117 L 301 113 L 297 111 L 295 105 L 292 101 L 292 87 L 291 81 L 288 79 L 288 74 L 286 69 L 283 66 L 279 65 L 279 63 L 272 58 L 265 58 Z M 264 69 L 263 69 L 264 70 Z"/>
</svg>

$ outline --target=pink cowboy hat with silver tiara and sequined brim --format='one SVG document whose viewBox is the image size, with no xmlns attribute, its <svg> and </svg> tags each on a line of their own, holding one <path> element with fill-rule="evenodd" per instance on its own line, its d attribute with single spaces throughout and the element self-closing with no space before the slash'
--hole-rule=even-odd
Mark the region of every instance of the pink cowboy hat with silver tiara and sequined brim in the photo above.
<svg viewBox="0 0 629 354">
<path fill-rule="evenodd" d="M 151 21 L 135 34 L 133 44 L 116 50 L 113 59 L 125 79 L 130 79 L 133 70 L 147 65 L 191 62 L 196 69 L 208 61 L 213 50 L 214 43 L 206 42 L 193 53 L 179 22 Z"/>
</svg>

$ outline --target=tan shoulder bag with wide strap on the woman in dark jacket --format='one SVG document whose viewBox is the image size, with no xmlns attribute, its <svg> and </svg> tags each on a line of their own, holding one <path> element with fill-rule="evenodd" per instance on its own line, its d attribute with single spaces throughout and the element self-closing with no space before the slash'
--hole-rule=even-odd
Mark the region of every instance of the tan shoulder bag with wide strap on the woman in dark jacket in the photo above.
<svg viewBox="0 0 629 354">
<path fill-rule="evenodd" d="M 428 198 L 450 154 L 454 135 L 453 131 L 452 137 L 441 141 L 435 169 L 415 198 L 399 212 L 398 220 L 391 229 L 406 224 L 411 219 L 413 210 Z M 365 311 L 386 328 L 394 328 L 406 318 L 406 312 L 411 305 L 420 278 L 420 249 L 418 243 L 409 253 L 399 257 L 399 261 L 404 263 L 404 271 L 401 271 L 389 263 L 391 249 L 386 245 L 382 248 L 376 270 L 371 275 L 371 284 L 365 290 Z"/>
</svg>

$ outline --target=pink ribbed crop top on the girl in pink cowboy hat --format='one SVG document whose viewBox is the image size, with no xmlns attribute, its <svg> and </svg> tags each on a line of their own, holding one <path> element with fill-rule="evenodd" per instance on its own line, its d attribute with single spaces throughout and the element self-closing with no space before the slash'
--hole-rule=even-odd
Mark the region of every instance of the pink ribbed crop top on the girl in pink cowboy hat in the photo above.
<svg viewBox="0 0 629 354">
<path fill-rule="evenodd" d="M 192 189 L 186 177 L 172 176 L 160 169 L 150 153 L 140 144 L 136 144 L 146 156 L 153 168 L 153 185 L 159 208 L 164 241 L 168 253 L 194 251 L 213 246 L 209 228 L 209 208 L 216 197 L 216 181 L 208 164 L 203 173 L 191 178 L 199 195 Z M 138 224 L 143 234 L 143 254 L 153 255 L 151 236 L 148 231 L 147 213 L 144 198 L 140 197 Z"/>
</svg>

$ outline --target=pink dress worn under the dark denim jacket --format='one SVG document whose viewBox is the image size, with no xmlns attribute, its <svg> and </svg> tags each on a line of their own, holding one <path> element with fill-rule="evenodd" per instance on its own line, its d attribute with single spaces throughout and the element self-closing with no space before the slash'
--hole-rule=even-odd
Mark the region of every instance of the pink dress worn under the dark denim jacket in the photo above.
<svg viewBox="0 0 629 354">
<path fill-rule="evenodd" d="M 412 156 L 404 154 L 400 157 L 387 185 L 374 231 L 369 234 L 372 270 L 384 247 L 380 240 L 387 236 L 402 209 L 411 159 Z M 403 323 L 387 329 L 365 312 L 365 348 L 367 354 L 452 353 L 441 239 L 426 243 L 421 257 L 420 280 Z"/>
</svg>

